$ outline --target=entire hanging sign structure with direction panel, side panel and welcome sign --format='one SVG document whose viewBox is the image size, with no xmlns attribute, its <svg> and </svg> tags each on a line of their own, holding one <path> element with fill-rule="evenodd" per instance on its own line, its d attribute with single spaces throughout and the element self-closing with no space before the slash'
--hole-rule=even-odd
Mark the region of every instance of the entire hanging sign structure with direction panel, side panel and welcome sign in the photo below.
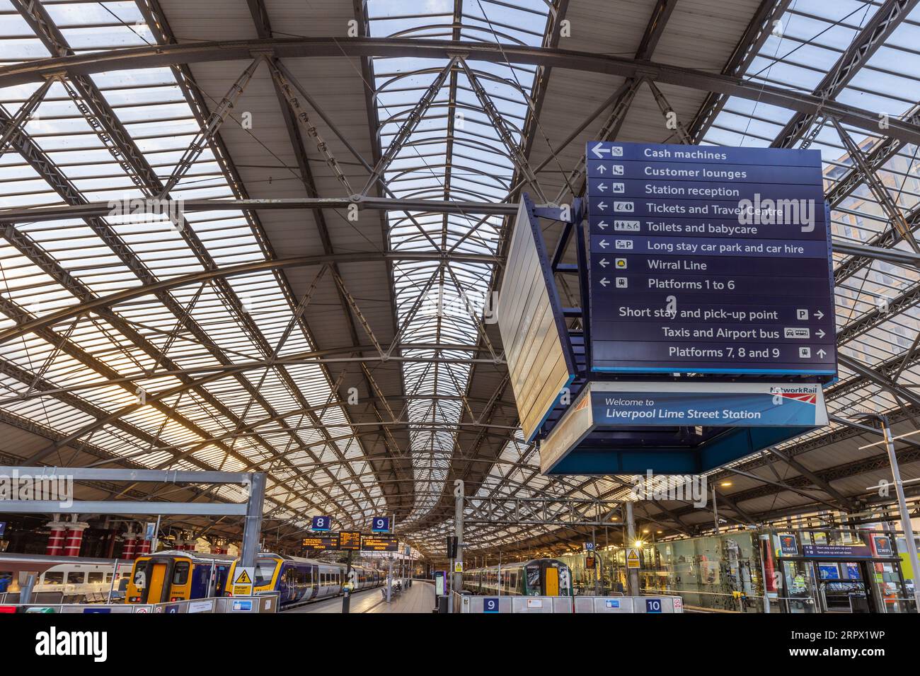
<svg viewBox="0 0 920 676">
<path fill-rule="evenodd" d="M 820 153 L 591 142 L 586 156 L 587 198 L 564 226 L 581 322 L 566 325 L 553 281 L 563 252 L 548 255 L 539 223 L 567 210 L 524 196 L 500 288 L 543 472 L 702 472 L 826 425 L 836 349 Z M 511 265 L 521 260 L 526 274 Z M 520 302 L 528 285 L 536 308 Z M 532 376 L 536 348 L 566 367 L 552 383 Z"/>
</svg>

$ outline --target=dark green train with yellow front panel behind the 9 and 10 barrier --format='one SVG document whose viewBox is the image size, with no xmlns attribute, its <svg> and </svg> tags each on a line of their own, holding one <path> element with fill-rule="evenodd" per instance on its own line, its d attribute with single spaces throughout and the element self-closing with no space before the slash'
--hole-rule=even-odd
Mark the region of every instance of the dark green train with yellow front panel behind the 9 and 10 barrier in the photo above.
<svg viewBox="0 0 920 676">
<path fill-rule="evenodd" d="M 463 589 L 482 596 L 572 596 L 569 567 L 555 558 L 473 568 L 463 573 Z"/>
</svg>

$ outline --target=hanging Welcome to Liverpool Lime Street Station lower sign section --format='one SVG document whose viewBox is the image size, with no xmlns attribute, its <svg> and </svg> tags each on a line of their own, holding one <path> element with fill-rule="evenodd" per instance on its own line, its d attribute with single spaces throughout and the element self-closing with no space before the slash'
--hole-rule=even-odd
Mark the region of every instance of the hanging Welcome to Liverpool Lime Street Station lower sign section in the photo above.
<svg viewBox="0 0 920 676">
<path fill-rule="evenodd" d="M 817 383 L 591 381 L 540 442 L 540 468 L 551 475 L 704 472 L 827 423 Z M 638 441 L 614 443 L 637 428 L 644 430 Z M 668 437 L 663 448 L 648 445 L 656 428 Z"/>
</svg>

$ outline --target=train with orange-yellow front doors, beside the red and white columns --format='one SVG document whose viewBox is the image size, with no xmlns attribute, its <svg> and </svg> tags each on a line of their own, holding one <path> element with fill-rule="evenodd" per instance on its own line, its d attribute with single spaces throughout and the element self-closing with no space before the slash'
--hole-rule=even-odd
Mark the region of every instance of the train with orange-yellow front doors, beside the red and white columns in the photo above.
<svg viewBox="0 0 920 676">
<path fill-rule="evenodd" d="M 166 550 L 134 559 L 125 603 L 163 603 L 224 596 L 233 556 Z"/>
</svg>

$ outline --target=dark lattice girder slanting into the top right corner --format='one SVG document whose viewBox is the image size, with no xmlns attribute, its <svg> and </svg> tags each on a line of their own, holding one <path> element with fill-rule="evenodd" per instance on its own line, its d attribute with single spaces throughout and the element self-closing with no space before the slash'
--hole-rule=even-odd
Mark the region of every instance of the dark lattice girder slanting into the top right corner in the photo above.
<svg viewBox="0 0 920 676">
<path fill-rule="evenodd" d="M 884 44 L 894 29 L 911 13 L 917 2 L 918 0 L 885 0 L 884 5 L 880 6 L 868 23 L 859 30 L 850 46 L 822 77 L 821 82 L 814 88 L 814 96 L 830 104 L 857 71 L 868 62 L 872 54 Z M 828 114 L 832 114 L 826 107 L 824 109 Z M 817 115 L 817 110 L 811 113 L 799 111 L 786 123 L 782 131 L 776 134 L 776 139 L 771 145 L 776 148 L 791 148 L 808 132 Z M 874 131 L 878 132 L 878 124 Z"/>
</svg>

